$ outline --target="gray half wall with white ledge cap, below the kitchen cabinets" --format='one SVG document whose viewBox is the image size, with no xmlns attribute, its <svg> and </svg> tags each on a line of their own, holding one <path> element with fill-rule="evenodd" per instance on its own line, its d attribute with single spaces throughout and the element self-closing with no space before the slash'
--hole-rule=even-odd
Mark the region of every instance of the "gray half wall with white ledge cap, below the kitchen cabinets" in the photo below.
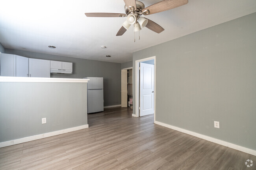
<svg viewBox="0 0 256 170">
<path fill-rule="evenodd" d="M 0 82 L 0 142 L 87 124 L 85 89 L 87 83 Z"/>
</svg>

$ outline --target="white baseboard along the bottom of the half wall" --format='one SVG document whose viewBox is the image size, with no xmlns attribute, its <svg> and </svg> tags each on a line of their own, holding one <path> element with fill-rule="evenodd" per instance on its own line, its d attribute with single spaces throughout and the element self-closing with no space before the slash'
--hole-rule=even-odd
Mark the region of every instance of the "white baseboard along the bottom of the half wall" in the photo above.
<svg viewBox="0 0 256 170">
<path fill-rule="evenodd" d="M 85 125 L 76 126 L 76 127 L 73 127 L 73 128 L 68 128 L 68 129 L 58 130 L 58 131 L 54 131 L 54 132 L 43 133 L 43 134 L 39 134 L 39 135 L 23 137 L 23 138 L 20 138 L 20 139 L 14 139 L 14 140 L 11 140 L 11 141 L 1 142 L 0 143 L 0 148 L 6 147 L 6 146 L 11 146 L 11 145 L 14 145 L 14 144 L 34 141 L 34 140 L 37 140 L 37 139 L 43 139 L 43 138 L 51 137 L 51 136 L 55 136 L 55 135 L 60 135 L 60 134 L 63 134 L 63 133 L 73 132 L 73 131 L 85 129 L 85 128 L 88 128 L 88 127 L 89 127 L 89 125 L 85 124 Z"/>
</svg>

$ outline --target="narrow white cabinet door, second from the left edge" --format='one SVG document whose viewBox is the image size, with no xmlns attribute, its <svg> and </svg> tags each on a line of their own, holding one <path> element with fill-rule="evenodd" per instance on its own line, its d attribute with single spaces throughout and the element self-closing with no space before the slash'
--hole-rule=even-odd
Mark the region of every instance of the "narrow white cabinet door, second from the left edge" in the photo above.
<svg viewBox="0 0 256 170">
<path fill-rule="evenodd" d="M 16 55 L 16 77 L 28 77 L 28 58 Z"/>
</svg>

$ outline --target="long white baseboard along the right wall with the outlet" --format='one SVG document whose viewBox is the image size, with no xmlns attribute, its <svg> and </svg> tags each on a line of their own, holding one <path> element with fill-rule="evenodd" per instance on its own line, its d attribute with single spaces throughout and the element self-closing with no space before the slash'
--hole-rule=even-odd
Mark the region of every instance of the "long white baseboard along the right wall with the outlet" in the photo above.
<svg viewBox="0 0 256 170">
<path fill-rule="evenodd" d="M 213 142 L 213 143 L 217 143 L 217 144 L 221 144 L 223 146 L 227 146 L 229 148 L 236 149 L 236 150 L 239 150 L 241 152 L 245 152 L 245 153 L 248 153 L 248 154 L 256 156 L 256 150 L 245 148 L 243 146 L 239 146 L 239 145 L 236 145 L 236 144 L 233 144 L 233 143 L 229 143 L 229 142 L 226 142 L 226 141 L 221 141 L 219 139 L 215 139 L 215 138 L 210 137 L 210 136 L 202 135 L 200 133 L 192 132 L 192 131 L 189 131 L 189 130 L 186 130 L 186 129 L 182 129 L 182 128 L 179 128 L 179 127 L 176 127 L 176 126 L 172 126 L 172 125 L 169 125 L 169 124 L 165 124 L 165 123 L 162 123 L 162 122 L 154 121 L 154 123 L 158 124 L 158 125 L 161 125 L 161 126 L 164 126 L 164 127 L 167 127 L 167 128 L 170 128 L 170 129 L 173 129 L 173 130 L 177 130 L 179 132 L 187 133 L 189 135 L 192 135 L 192 136 L 195 136 L 195 137 L 199 137 L 201 139 L 205 139 L 207 141 L 210 141 L 210 142 Z"/>
</svg>

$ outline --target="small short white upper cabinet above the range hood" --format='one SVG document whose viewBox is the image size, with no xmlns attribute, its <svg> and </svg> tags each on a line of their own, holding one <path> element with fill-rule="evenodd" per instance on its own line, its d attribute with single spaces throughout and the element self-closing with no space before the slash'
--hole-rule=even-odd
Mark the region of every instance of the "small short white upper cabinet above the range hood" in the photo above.
<svg viewBox="0 0 256 170">
<path fill-rule="evenodd" d="M 72 62 L 50 61 L 51 73 L 72 74 Z"/>
</svg>

